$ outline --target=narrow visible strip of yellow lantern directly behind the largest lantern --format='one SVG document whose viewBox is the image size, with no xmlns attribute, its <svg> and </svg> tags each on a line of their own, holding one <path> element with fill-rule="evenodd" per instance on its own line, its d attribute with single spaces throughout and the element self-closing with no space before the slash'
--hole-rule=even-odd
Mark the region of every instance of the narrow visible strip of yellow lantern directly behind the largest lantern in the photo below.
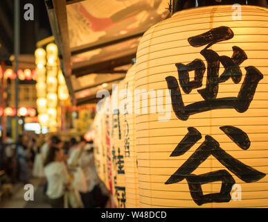
<svg viewBox="0 0 268 222">
<path fill-rule="evenodd" d="M 123 140 L 125 148 L 125 191 L 127 208 L 139 207 L 139 176 L 136 165 L 135 148 L 135 114 L 134 114 L 134 77 L 135 65 L 132 66 L 125 76 L 123 89 L 123 107 L 125 110 L 121 117 L 123 123 Z"/>
</svg>

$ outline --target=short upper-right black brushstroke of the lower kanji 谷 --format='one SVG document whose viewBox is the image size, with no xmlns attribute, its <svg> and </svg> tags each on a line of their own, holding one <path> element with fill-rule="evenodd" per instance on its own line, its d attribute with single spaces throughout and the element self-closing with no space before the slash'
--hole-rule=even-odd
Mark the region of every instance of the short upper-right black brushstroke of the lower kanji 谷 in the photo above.
<svg viewBox="0 0 268 222">
<path fill-rule="evenodd" d="M 247 133 L 235 126 L 221 126 L 220 129 L 243 150 L 250 147 L 250 140 Z"/>
</svg>

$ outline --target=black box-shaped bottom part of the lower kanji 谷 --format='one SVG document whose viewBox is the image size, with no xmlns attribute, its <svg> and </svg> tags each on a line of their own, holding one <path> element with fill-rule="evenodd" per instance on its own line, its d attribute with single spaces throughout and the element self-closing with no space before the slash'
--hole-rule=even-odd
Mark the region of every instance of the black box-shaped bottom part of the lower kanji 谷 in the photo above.
<svg viewBox="0 0 268 222">
<path fill-rule="evenodd" d="M 231 200 L 230 192 L 235 184 L 235 180 L 226 170 L 213 171 L 201 175 L 190 174 L 186 176 L 186 180 L 190 189 L 190 195 L 199 206 L 204 203 L 227 203 Z M 204 195 L 201 185 L 215 181 L 222 181 L 220 192 Z"/>
</svg>

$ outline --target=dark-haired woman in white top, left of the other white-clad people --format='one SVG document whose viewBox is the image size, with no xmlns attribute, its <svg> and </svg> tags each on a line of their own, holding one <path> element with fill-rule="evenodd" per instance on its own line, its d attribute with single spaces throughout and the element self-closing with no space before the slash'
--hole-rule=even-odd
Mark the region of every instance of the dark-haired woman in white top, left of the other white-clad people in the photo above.
<svg viewBox="0 0 268 222">
<path fill-rule="evenodd" d="M 51 146 L 44 162 L 44 173 L 48 182 L 46 195 L 52 208 L 64 207 L 64 190 L 70 183 L 63 160 L 62 148 Z"/>
</svg>

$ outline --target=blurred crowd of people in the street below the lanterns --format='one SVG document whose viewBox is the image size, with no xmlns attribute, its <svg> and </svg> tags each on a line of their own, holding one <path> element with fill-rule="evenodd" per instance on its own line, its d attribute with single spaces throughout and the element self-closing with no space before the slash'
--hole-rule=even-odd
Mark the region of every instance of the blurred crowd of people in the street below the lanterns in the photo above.
<svg viewBox="0 0 268 222">
<path fill-rule="evenodd" d="M 56 135 L 9 134 L 0 142 L 0 170 L 9 182 L 40 178 L 51 207 L 110 207 L 110 195 L 94 166 L 93 142 L 62 141 Z"/>
</svg>

